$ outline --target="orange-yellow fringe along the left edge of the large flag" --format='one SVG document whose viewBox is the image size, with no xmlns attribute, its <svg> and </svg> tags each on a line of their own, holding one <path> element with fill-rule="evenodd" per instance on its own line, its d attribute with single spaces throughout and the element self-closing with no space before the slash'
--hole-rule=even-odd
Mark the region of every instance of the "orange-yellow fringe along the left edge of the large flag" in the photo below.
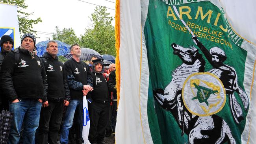
<svg viewBox="0 0 256 144">
<path fill-rule="evenodd" d="M 115 2 L 115 50 L 117 52 L 117 57 L 115 58 L 115 78 L 117 81 L 117 107 L 119 105 L 120 99 L 120 61 L 119 61 L 119 49 L 120 49 L 120 1 Z"/>
</svg>

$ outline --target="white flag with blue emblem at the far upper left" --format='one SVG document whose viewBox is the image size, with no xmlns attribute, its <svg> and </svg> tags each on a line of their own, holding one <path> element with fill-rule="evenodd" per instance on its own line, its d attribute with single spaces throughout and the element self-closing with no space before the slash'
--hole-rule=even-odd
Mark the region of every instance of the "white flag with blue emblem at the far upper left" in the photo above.
<svg viewBox="0 0 256 144">
<path fill-rule="evenodd" d="M 20 45 L 20 32 L 17 6 L 13 4 L 0 3 L 0 38 L 9 35 L 13 38 L 13 47 Z"/>
</svg>

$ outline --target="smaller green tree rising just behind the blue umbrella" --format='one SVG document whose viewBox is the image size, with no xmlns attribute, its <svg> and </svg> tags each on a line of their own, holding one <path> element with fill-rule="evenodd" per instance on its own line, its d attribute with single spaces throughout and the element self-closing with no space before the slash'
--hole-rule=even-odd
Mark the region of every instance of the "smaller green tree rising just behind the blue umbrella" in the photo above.
<svg viewBox="0 0 256 144">
<path fill-rule="evenodd" d="M 61 31 L 58 26 L 56 26 L 56 33 L 53 33 L 52 39 L 65 42 L 69 45 L 81 44 L 80 39 L 76 36 L 72 28 L 63 28 Z"/>
</svg>

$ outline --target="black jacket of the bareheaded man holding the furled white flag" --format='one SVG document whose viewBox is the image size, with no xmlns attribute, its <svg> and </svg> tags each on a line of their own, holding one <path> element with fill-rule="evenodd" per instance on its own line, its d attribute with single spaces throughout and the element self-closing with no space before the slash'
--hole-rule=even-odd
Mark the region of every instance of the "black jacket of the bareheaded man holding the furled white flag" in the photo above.
<svg viewBox="0 0 256 144">
<path fill-rule="evenodd" d="M 83 61 L 78 63 L 72 58 L 64 63 L 64 67 L 71 99 L 83 99 L 83 85 L 91 85 L 93 87 L 89 66 Z"/>
</svg>

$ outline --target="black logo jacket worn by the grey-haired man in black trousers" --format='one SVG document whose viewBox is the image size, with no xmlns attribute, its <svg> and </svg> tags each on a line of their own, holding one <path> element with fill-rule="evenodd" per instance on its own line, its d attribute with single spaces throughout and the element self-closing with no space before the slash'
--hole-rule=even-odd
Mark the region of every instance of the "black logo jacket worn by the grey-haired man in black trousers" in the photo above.
<svg viewBox="0 0 256 144">
<path fill-rule="evenodd" d="M 70 102 L 69 86 L 63 63 L 58 60 L 57 56 L 53 58 L 48 52 L 45 52 L 41 59 L 47 74 L 47 99 L 61 98 Z"/>
</svg>

